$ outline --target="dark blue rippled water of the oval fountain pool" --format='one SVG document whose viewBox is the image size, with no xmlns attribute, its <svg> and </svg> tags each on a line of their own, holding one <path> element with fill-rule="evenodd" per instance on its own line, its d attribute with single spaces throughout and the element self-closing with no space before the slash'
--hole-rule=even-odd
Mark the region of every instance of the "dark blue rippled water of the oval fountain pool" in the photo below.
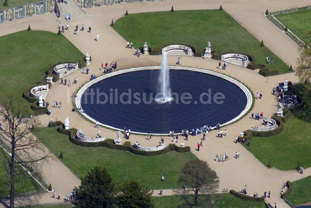
<svg viewBox="0 0 311 208">
<path fill-rule="evenodd" d="M 172 93 L 178 94 L 178 98 L 173 96 L 171 104 L 159 104 L 155 100 L 159 92 L 159 72 L 160 70 L 130 72 L 99 81 L 86 90 L 93 90 L 95 95 L 93 98 L 82 96 L 81 106 L 90 117 L 112 127 L 126 127 L 134 132 L 168 133 L 169 130 L 181 132 L 185 128 L 228 122 L 238 116 L 247 104 L 246 95 L 235 84 L 217 76 L 185 70 L 170 70 L 170 88 Z M 113 92 L 109 91 L 111 88 Z M 118 89 L 117 96 L 115 89 Z M 120 95 L 128 93 L 129 89 L 130 100 L 128 96 L 123 96 L 123 100 L 131 104 L 122 104 Z M 208 93 L 209 89 L 211 103 L 203 104 L 200 95 Z M 185 92 L 192 95 L 192 99 L 184 99 L 190 101 L 189 104 L 182 103 L 181 97 Z M 140 95 L 134 96 L 134 93 Z M 150 104 L 143 101 L 143 93 L 146 93 L 146 101 L 153 99 Z M 150 93 L 153 95 L 150 96 Z M 213 97 L 216 93 L 222 93 L 225 99 L 217 99 L 215 102 Z M 96 99 L 98 95 L 101 96 Z M 139 99 L 140 104 L 135 104 Z M 208 96 L 204 95 L 202 99 L 207 101 Z M 100 104 L 98 100 L 106 103 Z M 223 103 L 217 104 L 220 101 Z"/>
</svg>

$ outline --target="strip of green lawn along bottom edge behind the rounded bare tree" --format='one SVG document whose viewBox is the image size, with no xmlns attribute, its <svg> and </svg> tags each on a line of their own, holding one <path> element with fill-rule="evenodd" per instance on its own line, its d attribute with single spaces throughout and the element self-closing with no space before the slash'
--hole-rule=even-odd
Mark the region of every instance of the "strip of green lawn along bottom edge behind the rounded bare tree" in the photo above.
<svg viewBox="0 0 311 208">
<path fill-rule="evenodd" d="M 199 196 L 200 197 L 200 196 Z M 204 197 L 202 207 L 206 208 L 265 208 L 264 202 L 246 201 L 232 194 L 207 194 Z M 177 208 L 184 202 L 180 196 L 156 196 L 153 197 L 156 208 Z M 214 205 L 211 201 L 214 201 Z"/>
</svg>

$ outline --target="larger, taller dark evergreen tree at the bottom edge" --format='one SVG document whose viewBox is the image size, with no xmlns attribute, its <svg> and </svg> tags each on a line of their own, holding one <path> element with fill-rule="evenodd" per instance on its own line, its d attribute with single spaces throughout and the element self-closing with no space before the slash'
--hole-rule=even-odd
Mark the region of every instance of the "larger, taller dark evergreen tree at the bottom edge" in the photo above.
<svg viewBox="0 0 311 208">
<path fill-rule="evenodd" d="M 77 208 L 114 207 L 117 186 L 102 166 L 95 166 L 85 177 L 77 189 Z"/>
</svg>

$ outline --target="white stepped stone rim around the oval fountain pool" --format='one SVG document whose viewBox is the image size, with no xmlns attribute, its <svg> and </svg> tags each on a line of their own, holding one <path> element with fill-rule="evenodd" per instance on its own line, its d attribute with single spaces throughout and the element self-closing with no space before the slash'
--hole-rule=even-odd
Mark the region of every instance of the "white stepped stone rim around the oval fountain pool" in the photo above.
<svg viewBox="0 0 311 208">
<path fill-rule="evenodd" d="M 79 109 L 81 107 L 81 98 L 82 98 L 82 95 L 84 93 L 85 90 L 87 90 L 91 85 L 101 81 L 101 80 L 104 80 L 106 78 L 109 78 L 109 77 L 112 77 L 112 76 L 116 76 L 116 75 L 120 75 L 120 74 L 124 74 L 124 73 L 129 73 L 129 72 L 136 72 L 136 71 L 143 71 L 143 70 L 151 70 L 151 69 L 161 69 L 161 66 L 154 66 L 154 67 L 137 67 L 137 68 L 131 68 L 131 69 L 123 69 L 123 70 L 120 70 L 120 71 L 116 71 L 116 72 L 111 72 L 111 73 L 108 73 L 108 74 L 104 74 L 102 76 L 99 76 L 97 77 L 96 79 L 86 83 L 84 86 L 81 87 L 81 89 L 77 92 L 77 96 L 76 96 L 76 99 L 75 99 L 75 102 L 76 102 L 76 107 L 77 109 Z M 220 124 L 220 126 L 225 126 L 225 125 L 228 125 L 232 122 L 235 122 L 236 120 L 238 120 L 239 118 L 241 118 L 245 113 L 247 113 L 247 111 L 251 108 L 252 106 L 252 103 L 253 103 L 253 95 L 252 93 L 248 90 L 248 88 L 246 86 L 244 86 L 244 84 L 242 84 L 241 82 L 229 77 L 229 76 L 226 76 L 224 74 L 221 74 L 221 73 L 218 73 L 218 72 L 213 72 L 213 71 L 210 71 L 210 70 L 207 70 L 207 69 L 200 69 L 200 68 L 192 68 L 192 67 L 182 67 L 182 66 L 169 66 L 169 69 L 177 69 L 177 70 L 187 70 L 187 71 L 194 71 L 194 72 L 201 72 L 201 73 L 206 73 L 206 74 L 211 74 L 211 75 L 214 75 L 214 76 L 218 76 L 220 78 L 223 78 L 227 81 L 230 81 L 231 83 L 235 84 L 236 86 L 238 86 L 243 92 L 244 94 L 246 95 L 246 98 L 247 98 L 247 103 L 246 103 L 246 106 L 244 108 L 244 110 L 235 118 L 231 119 L 230 121 L 226 122 L 226 123 L 222 123 Z M 89 115 L 87 115 L 86 113 L 81 113 L 84 117 L 86 117 L 87 119 L 89 119 L 90 121 L 92 122 L 96 122 L 95 119 L 91 118 Z M 117 131 L 121 131 L 123 132 L 124 129 L 119 129 L 119 128 L 115 128 L 115 127 L 112 127 L 112 126 L 109 126 L 109 125 L 106 125 L 106 124 L 103 124 L 103 123 L 98 123 L 99 125 L 101 126 L 104 126 L 104 127 L 107 127 L 107 128 L 111 128 L 111 129 L 114 129 L 114 130 L 117 130 Z M 215 127 L 213 127 L 215 128 Z M 135 133 L 135 134 L 142 134 L 142 135 L 147 135 L 148 133 L 150 132 L 132 132 L 131 133 Z M 152 133 L 152 132 L 151 132 Z M 168 132 L 164 132 L 164 133 L 152 133 L 153 135 L 168 135 Z M 181 132 L 177 133 L 177 134 L 181 134 Z"/>
</svg>

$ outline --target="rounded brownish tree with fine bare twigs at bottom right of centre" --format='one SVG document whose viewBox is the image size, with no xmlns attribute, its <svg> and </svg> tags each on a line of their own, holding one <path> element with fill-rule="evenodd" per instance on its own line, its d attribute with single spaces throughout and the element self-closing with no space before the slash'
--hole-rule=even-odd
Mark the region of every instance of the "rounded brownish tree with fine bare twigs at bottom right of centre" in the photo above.
<svg viewBox="0 0 311 208">
<path fill-rule="evenodd" d="M 208 167 L 206 161 L 189 160 L 181 170 L 178 184 L 182 189 L 174 189 L 174 194 L 182 196 L 186 203 L 191 206 L 192 201 L 197 206 L 198 195 L 215 193 L 218 188 L 218 177 L 215 171 Z"/>
</svg>

